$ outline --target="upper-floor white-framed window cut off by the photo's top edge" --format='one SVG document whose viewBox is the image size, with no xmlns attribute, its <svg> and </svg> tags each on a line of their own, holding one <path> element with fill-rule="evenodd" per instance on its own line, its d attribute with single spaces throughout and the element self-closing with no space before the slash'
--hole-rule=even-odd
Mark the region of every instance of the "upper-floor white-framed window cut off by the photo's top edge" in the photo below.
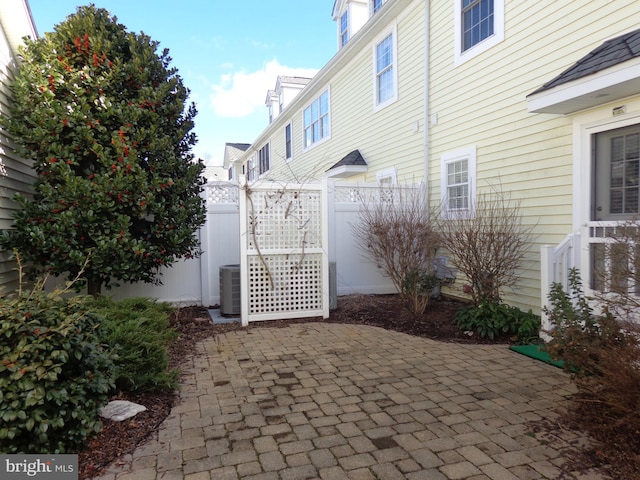
<svg viewBox="0 0 640 480">
<path fill-rule="evenodd" d="M 455 0 L 455 5 L 456 64 L 504 40 L 504 0 Z"/>
</svg>

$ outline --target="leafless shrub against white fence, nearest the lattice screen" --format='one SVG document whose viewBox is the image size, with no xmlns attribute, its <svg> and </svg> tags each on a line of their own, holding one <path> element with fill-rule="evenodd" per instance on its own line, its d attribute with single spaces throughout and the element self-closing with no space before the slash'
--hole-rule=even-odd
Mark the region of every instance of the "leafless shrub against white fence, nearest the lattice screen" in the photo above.
<svg viewBox="0 0 640 480">
<path fill-rule="evenodd" d="M 366 260 L 378 265 L 411 308 L 422 313 L 429 302 L 425 276 L 435 276 L 440 235 L 431 223 L 422 188 L 381 187 L 378 200 L 363 199 L 358 223 L 351 225 Z"/>
</svg>

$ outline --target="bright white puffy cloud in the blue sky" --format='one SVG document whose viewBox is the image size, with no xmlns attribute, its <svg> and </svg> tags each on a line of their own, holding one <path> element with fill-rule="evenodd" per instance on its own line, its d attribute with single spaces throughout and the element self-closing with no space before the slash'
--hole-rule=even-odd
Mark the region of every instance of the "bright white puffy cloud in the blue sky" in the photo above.
<svg viewBox="0 0 640 480">
<path fill-rule="evenodd" d="M 278 75 L 313 77 L 317 70 L 280 65 L 274 59 L 255 72 L 238 71 L 220 76 L 211 86 L 211 105 L 221 117 L 245 117 L 264 108 L 267 90 L 276 85 Z"/>
</svg>

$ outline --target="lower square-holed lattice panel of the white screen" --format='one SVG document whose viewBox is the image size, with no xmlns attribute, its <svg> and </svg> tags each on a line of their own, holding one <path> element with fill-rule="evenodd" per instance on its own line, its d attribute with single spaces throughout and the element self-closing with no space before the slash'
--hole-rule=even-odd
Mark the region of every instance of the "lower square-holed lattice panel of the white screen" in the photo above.
<svg viewBox="0 0 640 480">
<path fill-rule="evenodd" d="M 322 254 L 248 258 L 249 314 L 322 310 Z"/>
</svg>

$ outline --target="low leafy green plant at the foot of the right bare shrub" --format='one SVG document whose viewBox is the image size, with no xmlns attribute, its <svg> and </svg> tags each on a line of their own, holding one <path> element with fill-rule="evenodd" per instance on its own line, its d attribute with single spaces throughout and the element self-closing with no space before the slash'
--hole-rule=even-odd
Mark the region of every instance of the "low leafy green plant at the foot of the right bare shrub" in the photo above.
<svg viewBox="0 0 640 480">
<path fill-rule="evenodd" d="M 460 329 L 475 332 L 482 338 L 493 340 L 508 335 L 519 344 L 539 341 L 540 317 L 531 310 L 523 312 L 500 302 L 486 300 L 469 305 L 458 311 L 456 323 Z"/>
</svg>

